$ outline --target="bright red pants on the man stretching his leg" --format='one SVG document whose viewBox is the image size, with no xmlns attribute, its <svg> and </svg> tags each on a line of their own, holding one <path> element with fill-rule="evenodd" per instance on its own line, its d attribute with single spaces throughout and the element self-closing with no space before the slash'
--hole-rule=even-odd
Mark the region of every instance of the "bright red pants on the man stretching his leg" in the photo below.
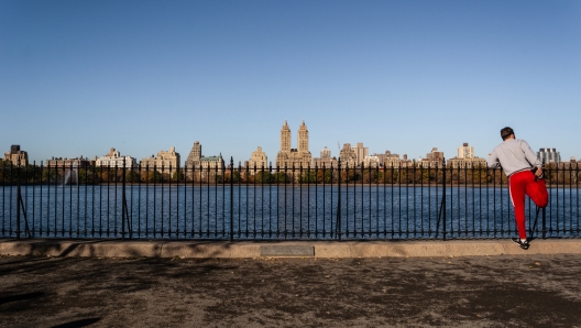
<svg viewBox="0 0 581 328">
<path fill-rule="evenodd" d="M 525 194 L 533 199 L 537 207 L 545 208 L 549 203 L 549 194 L 545 179 L 535 182 L 535 175 L 530 171 L 517 172 L 511 175 L 508 179 L 511 199 L 515 208 L 516 227 L 518 236 L 526 239 L 525 227 Z"/>
</svg>

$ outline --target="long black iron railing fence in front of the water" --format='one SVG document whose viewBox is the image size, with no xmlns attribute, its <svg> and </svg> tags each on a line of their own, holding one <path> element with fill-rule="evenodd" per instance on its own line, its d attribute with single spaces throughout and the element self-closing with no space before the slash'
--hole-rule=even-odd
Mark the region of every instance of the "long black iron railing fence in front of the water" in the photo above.
<svg viewBox="0 0 581 328">
<path fill-rule="evenodd" d="M 209 164 L 210 165 L 210 164 Z M 545 167 L 529 234 L 579 238 L 579 165 Z M 0 237 L 472 239 L 516 236 L 501 170 L 0 166 Z"/>
</svg>

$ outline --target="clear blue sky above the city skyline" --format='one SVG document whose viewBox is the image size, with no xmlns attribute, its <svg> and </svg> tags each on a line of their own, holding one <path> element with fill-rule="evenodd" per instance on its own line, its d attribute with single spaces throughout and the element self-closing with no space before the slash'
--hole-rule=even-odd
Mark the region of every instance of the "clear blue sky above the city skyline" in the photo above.
<svg viewBox="0 0 581 328">
<path fill-rule="evenodd" d="M 581 1 L 0 0 L 0 151 L 417 158 L 517 138 L 581 157 Z"/>
</svg>

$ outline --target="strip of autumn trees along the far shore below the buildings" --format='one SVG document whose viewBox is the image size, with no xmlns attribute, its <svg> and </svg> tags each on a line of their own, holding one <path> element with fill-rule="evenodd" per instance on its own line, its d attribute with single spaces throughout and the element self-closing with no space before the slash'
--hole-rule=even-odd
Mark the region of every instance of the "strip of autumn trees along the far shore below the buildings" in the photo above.
<svg viewBox="0 0 581 328">
<path fill-rule="evenodd" d="M 575 165 L 547 164 L 545 176 L 549 185 L 579 186 L 581 172 Z M 161 172 L 146 168 L 91 166 L 83 168 L 15 167 L 0 161 L 0 184 L 110 184 L 110 183 L 191 183 L 191 184 L 405 184 L 436 185 L 502 185 L 506 176 L 502 170 L 478 167 L 349 167 L 245 170 L 175 170 Z"/>
</svg>

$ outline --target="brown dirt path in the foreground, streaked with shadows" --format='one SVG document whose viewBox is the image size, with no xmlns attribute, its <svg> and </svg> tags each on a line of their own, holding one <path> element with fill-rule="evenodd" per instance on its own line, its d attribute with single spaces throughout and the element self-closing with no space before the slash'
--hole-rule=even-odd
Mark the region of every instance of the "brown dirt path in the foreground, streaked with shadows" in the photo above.
<svg viewBox="0 0 581 328">
<path fill-rule="evenodd" d="M 0 258 L 2 327 L 581 327 L 581 256 Z"/>
</svg>

